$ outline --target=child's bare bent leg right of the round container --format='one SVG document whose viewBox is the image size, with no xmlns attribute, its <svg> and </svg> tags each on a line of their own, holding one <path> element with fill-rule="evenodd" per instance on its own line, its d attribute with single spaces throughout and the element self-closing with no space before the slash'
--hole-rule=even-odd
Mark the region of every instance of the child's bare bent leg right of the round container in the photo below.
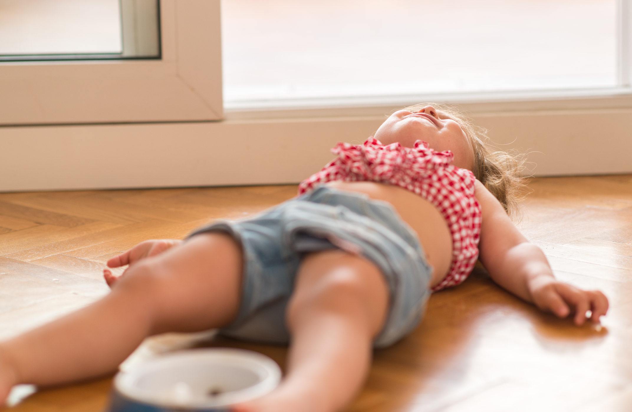
<svg viewBox="0 0 632 412">
<path fill-rule="evenodd" d="M 335 250 L 305 257 L 288 306 L 288 374 L 268 396 L 235 411 L 337 411 L 362 385 L 373 338 L 386 319 L 380 270 Z"/>
</svg>

